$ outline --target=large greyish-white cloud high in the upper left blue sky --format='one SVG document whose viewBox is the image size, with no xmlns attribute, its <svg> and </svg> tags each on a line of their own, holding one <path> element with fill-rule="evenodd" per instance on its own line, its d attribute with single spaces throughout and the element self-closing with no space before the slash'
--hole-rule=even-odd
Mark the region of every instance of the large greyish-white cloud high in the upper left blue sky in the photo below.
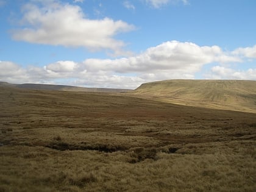
<svg viewBox="0 0 256 192">
<path fill-rule="evenodd" d="M 32 1 L 24 5 L 21 24 L 23 29 L 12 30 L 15 40 L 114 52 L 121 52 L 125 46 L 115 35 L 135 29 L 121 20 L 90 20 L 79 6 L 59 1 Z"/>
</svg>

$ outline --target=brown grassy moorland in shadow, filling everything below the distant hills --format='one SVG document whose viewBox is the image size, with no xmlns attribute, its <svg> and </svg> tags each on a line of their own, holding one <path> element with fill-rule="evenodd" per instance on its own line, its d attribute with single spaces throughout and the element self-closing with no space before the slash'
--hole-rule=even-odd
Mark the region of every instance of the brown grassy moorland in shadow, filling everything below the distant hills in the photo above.
<svg viewBox="0 0 256 192">
<path fill-rule="evenodd" d="M 255 191 L 256 114 L 0 88 L 0 191 Z"/>
</svg>

